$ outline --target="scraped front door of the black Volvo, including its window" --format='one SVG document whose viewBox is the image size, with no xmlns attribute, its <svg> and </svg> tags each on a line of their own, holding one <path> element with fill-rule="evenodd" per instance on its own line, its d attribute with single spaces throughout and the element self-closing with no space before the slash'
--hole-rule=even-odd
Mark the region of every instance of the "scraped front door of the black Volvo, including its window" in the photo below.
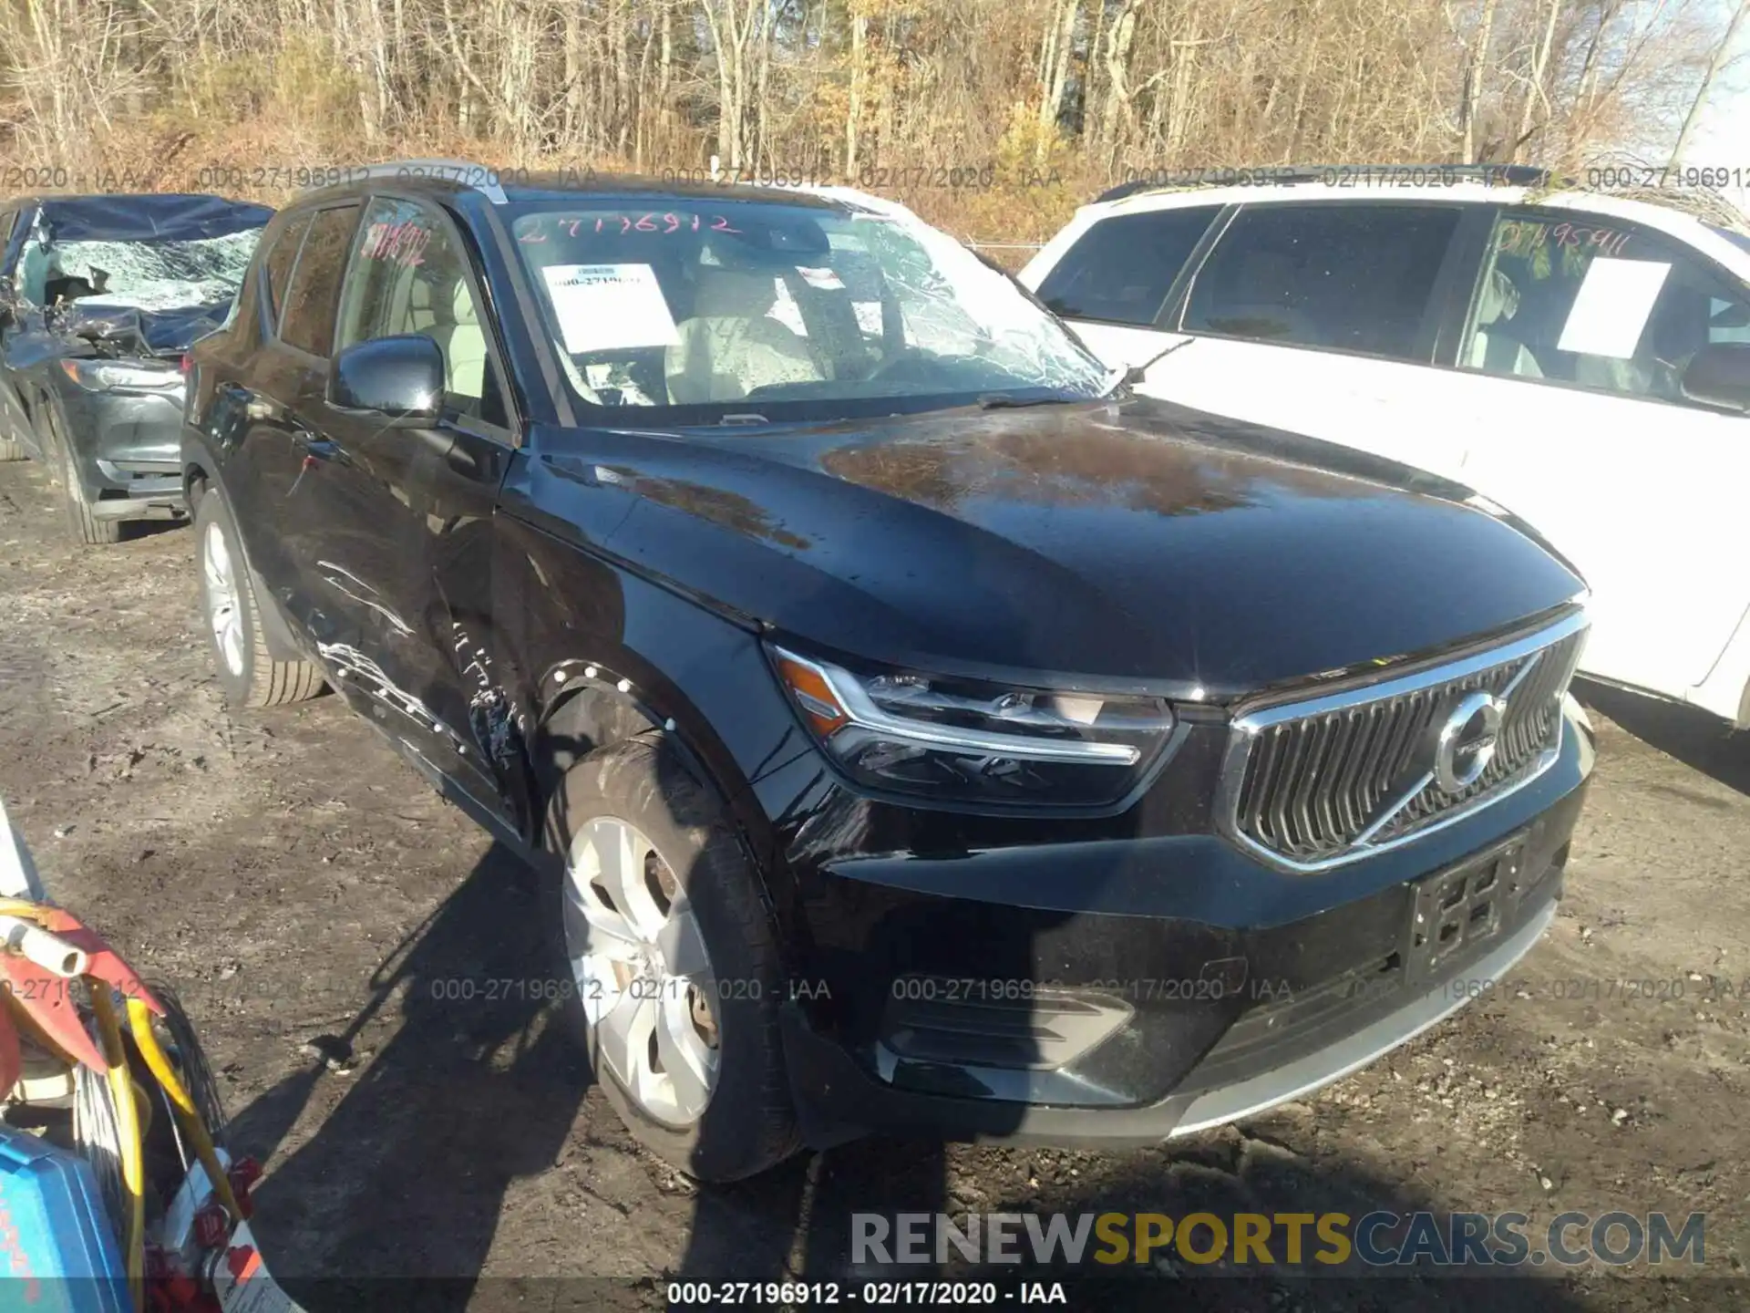
<svg viewBox="0 0 1750 1313">
<path fill-rule="evenodd" d="M 303 571 L 313 634 L 343 688 L 368 702 L 430 774 L 499 819 L 520 821 L 490 760 L 500 683 L 486 655 L 494 504 L 513 450 L 504 371 L 467 245 L 427 201 L 374 198 L 352 243 L 332 350 L 424 334 L 444 357 L 443 415 L 388 427 L 308 411 Z"/>
</svg>

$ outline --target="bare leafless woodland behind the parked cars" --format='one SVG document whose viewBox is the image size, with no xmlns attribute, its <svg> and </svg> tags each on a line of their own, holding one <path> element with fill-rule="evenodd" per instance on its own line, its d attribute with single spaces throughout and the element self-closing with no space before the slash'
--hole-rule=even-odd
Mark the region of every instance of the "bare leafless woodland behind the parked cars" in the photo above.
<svg viewBox="0 0 1750 1313">
<path fill-rule="evenodd" d="M 0 0 L 0 163 L 718 154 L 928 179 L 926 215 L 1038 235 L 1139 168 L 1682 156 L 1746 4 Z"/>
</svg>

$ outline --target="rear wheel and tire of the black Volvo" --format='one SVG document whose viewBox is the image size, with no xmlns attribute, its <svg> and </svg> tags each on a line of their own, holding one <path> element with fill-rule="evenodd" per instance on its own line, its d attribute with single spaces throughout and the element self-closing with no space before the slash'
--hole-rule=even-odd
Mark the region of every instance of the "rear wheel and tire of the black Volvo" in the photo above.
<svg viewBox="0 0 1750 1313">
<path fill-rule="evenodd" d="M 194 557 L 201 618 L 226 702 L 233 707 L 276 707 L 320 693 L 318 667 L 276 662 L 268 651 L 243 543 L 217 488 L 206 490 L 194 513 Z"/>
</svg>

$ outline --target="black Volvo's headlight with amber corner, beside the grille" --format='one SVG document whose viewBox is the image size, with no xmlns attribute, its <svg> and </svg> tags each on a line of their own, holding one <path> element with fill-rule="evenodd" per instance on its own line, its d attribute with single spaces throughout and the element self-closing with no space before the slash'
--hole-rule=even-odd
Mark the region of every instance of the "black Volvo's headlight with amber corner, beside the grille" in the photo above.
<svg viewBox="0 0 1750 1313">
<path fill-rule="evenodd" d="M 1172 730 L 1172 709 L 1155 697 L 852 674 L 782 648 L 772 655 L 826 751 L 877 790 L 973 804 L 1110 804 Z"/>
</svg>

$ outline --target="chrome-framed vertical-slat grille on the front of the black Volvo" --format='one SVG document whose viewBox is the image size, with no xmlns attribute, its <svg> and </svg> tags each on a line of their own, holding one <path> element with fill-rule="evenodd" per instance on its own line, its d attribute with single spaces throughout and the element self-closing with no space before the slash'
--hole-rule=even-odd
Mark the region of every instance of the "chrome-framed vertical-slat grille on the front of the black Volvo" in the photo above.
<svg viewBox="0 0 1750 1313">
<path fill-rule="evenodd" d="M 1297 868 L 1337 865 L 1542 774 L 1584 614 L 1493 651 L 1311 702 L 1241 716 L 1223 790 L 1237 839 Z M 1458 791 L 1433 783 L 1433 744 L 1466 695 L 1505 702 L 1494 756 Z"/>
</svg>

